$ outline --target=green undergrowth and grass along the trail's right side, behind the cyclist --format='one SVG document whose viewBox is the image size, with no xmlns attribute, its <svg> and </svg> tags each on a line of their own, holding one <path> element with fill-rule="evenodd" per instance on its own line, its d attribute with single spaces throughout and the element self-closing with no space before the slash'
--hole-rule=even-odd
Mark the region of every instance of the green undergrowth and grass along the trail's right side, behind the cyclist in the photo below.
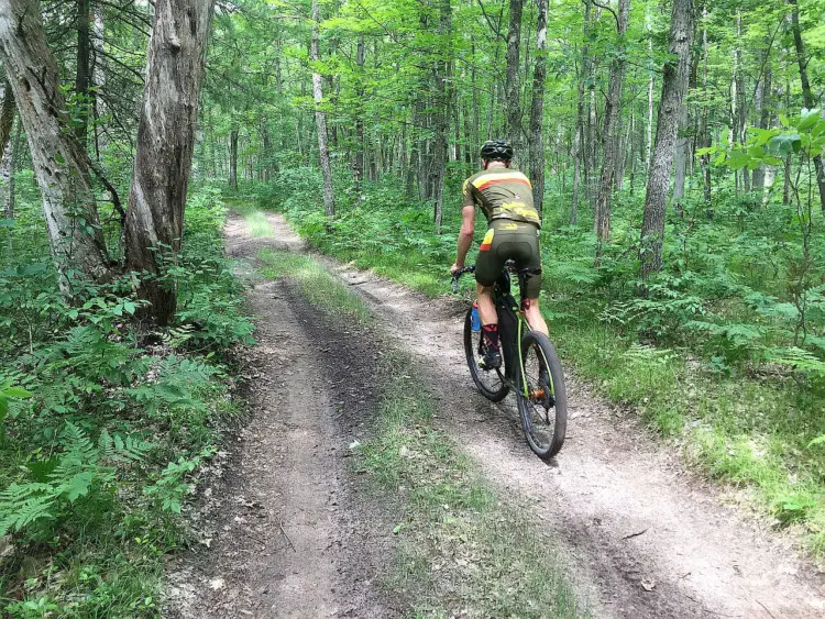
<svg viewBox="0 0 825 619">
<path fill-rule="evenodd" d="M 284 170 L 251 188 L 318 250 L 429 296 L 449 290 L 458 199 L 443 234 L 397 181 L 320 206 L 318 173 Z M 458 196 L 459 187 L 448 186 Z M 286 197 L 282 199 L 280 197 Z M 358 198 L 358 200 L 356 200 Z M 779 524 L 801 523 L 825 551 L 825 242 L 814 213 L 810 256 L 792 206 L 721 186 L 713 212 L 690 198 L 668 220 L 664 268 L 639 295 L 644 194 L 618 192 L 612 242 L 594 267 L 592 220 L 569 225 L 569 195 L 546 195 L 542 310 L 579 375 L 683 446 L 713 477 L 752 490 Z M 476 236 L 485 228 L 476 218 Z M 477 247 L 476 237 L 474 247 Z M 468 261 L 474 261 L 474 252 Z M 462 281 L 470 295 L 472 283 Z"/>
</svg>

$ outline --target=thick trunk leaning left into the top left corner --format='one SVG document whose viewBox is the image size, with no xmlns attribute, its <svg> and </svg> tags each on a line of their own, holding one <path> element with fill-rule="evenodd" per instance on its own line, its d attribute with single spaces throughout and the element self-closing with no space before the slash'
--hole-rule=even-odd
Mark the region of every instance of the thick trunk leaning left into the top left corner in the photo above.
<svg viewBox="0 0 825 619">
<path fill-rule="evenodd" d="M 46 44 L 37 0 L 0 0 L 0 58 L 29 136 L 61 291 L 74 297 L 68 270 L 106 280 L 110 276 L 109 258 L 98 221 L 90 162 L 69 131 L 57 65 Z"/>
</svg>

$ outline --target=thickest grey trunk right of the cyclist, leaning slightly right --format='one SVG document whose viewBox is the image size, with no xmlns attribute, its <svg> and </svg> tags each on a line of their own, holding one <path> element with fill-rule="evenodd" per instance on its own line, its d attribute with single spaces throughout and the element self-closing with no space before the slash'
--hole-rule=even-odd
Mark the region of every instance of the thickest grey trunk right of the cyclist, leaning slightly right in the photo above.
<svg viewBox="0 0 825 619">
<path fill-rule="evenodd" d="M 651 161 L 645 215 L 641 223 L 641 275 L 647 280 L 662 265 L 664 207 L 668 199 L 670 170 L 679 131 L 679 114 L 688 90 L 691 42 L 693 41 L 693 0 L 674 0 L 669 48 L 675 62 L 664 64 L 662 97 L 657 117 L 656 144 Z"/>
</svg>

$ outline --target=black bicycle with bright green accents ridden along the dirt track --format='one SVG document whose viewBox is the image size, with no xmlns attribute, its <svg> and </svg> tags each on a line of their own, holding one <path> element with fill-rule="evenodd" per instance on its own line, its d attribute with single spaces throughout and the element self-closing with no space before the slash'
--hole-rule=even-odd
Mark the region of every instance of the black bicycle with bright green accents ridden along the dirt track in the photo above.
<svg viewBox="0 0 825 619">
<path fill-rule="evenodd" d="M 475 265 L 455 272 L 453 294 L 458 292 L 459 278 L 474 272 Z M 501 368 L 484 369 L 479 365 L 482 332 L 481 325 L 473 324 L 473 310 L 477 311 L 475 303 L 464 318 L 464 352 L 473 383 L 485 398 L 499 402 L 510 390 L 515 391 L 527 444 L 541 460 L 550 460 L 564 443 L 568 395 L 556 347 L 547 335 L 531 330 L 525 317 L 525 283 L 540 273 L 541 269 L 516 269 L 515 263 L 507 261 L 493 287 L 504 372 Z M 510 274 L 518 276 L 518 302 L 510 294 Z"/>
</svg>

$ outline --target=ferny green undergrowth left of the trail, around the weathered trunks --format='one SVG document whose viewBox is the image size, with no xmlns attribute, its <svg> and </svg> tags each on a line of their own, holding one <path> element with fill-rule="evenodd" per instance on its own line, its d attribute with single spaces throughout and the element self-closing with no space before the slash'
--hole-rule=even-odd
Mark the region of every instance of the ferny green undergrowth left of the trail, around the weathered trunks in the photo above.
<svg viewBox="0 0 825 619">
<path fill-rule="evenodd" d="M 36 200 L 3 221 L 0 615 L 157 616 L 198 468 L 240 413 L 229 351 L 251 342 L 219 192 L 190 196 L 165 330 L 134 319 L 127 278 L 63 299 Z"/>
</svg>

